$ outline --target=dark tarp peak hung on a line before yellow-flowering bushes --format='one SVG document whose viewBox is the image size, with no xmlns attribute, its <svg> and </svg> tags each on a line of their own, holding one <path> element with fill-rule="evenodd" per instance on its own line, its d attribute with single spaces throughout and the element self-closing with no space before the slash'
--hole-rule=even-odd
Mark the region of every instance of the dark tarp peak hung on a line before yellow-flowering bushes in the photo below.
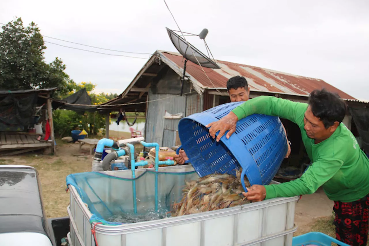
<svg viewBox="0 0 369 246">
<path fill-rule="evenodd" d="M 85 111 L 95 112 L 97 110 L 97 106 L 96 107 L 80 106 L 80 105 L 91 105 L 91 98 L 85 88 L 80 89 L 79 91 L 68 96 L 67 98 L 64 98 L 62 101 L 68 104 L 62 105 L 60 107 L 61 109 L 73 110 L 77 113 L 83 113 Z M 79 105 L 71 105 L 71 104 L 79 104 Z"/>
</svg>

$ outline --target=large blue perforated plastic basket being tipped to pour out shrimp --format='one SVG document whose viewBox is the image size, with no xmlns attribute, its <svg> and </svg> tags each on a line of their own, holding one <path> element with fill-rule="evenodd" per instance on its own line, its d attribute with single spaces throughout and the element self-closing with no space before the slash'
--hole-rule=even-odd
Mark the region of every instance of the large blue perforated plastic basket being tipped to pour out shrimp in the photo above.
<svg viewBox="0 0 369 246">
<path fill-rule="evenodd" d="M 216 142 L 205 126 L 242 103 L 225 103 L 185 117 L 179 121 L 178 133 L 182 148 L 200 177 L 215 172 L 235 175 L 235 168 L 241 166 L 246 190 L 244 175 L 250 185 L 272 181 L 287 154 L 287 141 L 279 117 L 255 114 L 239 120 L 230 139 L 224 134 Z"/>
</svg>

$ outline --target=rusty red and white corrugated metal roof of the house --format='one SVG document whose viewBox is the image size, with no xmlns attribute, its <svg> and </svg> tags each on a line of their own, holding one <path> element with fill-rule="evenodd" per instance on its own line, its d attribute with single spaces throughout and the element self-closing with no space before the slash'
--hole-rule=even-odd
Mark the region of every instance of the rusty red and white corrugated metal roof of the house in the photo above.
<svg viewBox="0 0 369 246">
<path fill-rule="evenodd" d="M 168 58 L 183 69 L 184 58 L 179 53 L 168 51 L 157 52 L 160 52 L 165 58 Z M 284 72 L 233 62 L 218 60 L 217 64 L 221 69 L 202 68 L 209 77 L 207 78 L 199 65 L 196 65 L 191 61 L 187 61 L 186 74 L 189 74 L 192 77 L 190 79 L 196 79 L 196 81 L 202 85 L 201 87 L 203 89 L 226 88 L 229 78 L 240 75 L 246 78 L 252 91 L 309 95 L 314 89 L 325 88 L 331 92 L 337 92 L 341 98 L 356 100 L 354 97 L 321 79 L 287 74 Z M 209 81 L 209 79 L 211 81 Z"/>
</svg>

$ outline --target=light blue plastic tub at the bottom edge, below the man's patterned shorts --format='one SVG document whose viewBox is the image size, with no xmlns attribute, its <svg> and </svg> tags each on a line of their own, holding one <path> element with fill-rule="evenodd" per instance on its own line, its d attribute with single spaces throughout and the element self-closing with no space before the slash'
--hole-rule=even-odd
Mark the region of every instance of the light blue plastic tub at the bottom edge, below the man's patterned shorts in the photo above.
<svg viewBox="0 0 369 246">
<path fill-rule="evenodd" d="M 340 246 L 349 246 L 321 232 L 309 232 L 292 238 L 292 246 L 331 246 L 331 243 L 337 243 Z"/>
</svg>

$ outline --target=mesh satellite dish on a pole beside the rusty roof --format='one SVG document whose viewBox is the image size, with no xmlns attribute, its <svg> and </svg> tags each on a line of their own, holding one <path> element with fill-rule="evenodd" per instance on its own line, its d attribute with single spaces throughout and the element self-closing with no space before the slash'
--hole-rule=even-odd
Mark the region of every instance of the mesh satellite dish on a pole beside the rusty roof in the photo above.
<svg viewBox="0 0 369 246">
<path fill-rule="evenodd" d="M 166 30 L 168 31 L 169 38 L 172 41 L 173 45 L 176 47 L 178 52 L 181 55 L 183 55 L 183 57 L 186 59 L 184 60 L 183 76 L 181 78 L 181 94 L 180 95 L 182 96 L 183 84 L 184 84 L 185 74 L 186 74 L 187 60 L 190 60 L 194 64 L 204 66 L 206 68 L 220 68 L 220 66 L 216 64 L 215 61 L 211 60 L 209 57 L 204 55 L 199 49 L 195 48 L 192 44 L 184 40 L 184 38 L 182 38 L 180 35 L 176 34 L 175 31 L 170 30 L 168 27 L 166 27 Z M 191 34 L 191 33 L 186 33 L 186 34 L 190 34 L 187 36 L 200 37 L 200 39 L 204 40 L 206 49 L 208 50 L 209 47 L 207 46 L 206 41 L 205 41 L 205 37 L 208 34 L 208 30 L 206 28 L 203 29 L 199 35 Z"/>
</svg>

